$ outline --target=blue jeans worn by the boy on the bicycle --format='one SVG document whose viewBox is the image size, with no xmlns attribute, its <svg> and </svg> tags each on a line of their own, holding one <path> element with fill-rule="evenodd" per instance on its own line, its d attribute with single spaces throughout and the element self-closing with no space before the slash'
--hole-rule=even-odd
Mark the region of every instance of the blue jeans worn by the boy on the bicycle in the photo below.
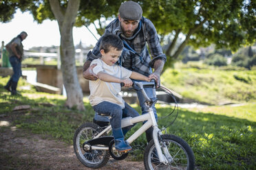
<svg viewBox="0 0 256 170">
<path fill-rule="evenodd" d="M 95 112 L 99 112 L 101 114 L 106 114 L 110 116 L 110 125 L 112 129 L 117 129 L 121 127 L 121 120 L 125 117 L 138 117 L 140 114 L 134 108 L 131 108 L 129 104 L 125 103 L 125 108 L 121 108 L 117 104 L 110 103 L 108 101 L 103 101 L 96 106 L 92 106 Z M 131 126 L 132 127 L 132 126 Z M 128 127 L 128 130 L 131 128 Z"/>
</svg>

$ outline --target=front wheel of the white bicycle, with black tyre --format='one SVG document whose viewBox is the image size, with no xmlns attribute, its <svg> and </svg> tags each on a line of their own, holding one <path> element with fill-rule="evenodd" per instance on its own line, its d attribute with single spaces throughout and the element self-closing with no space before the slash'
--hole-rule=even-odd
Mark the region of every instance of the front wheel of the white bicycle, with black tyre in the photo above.
<svg viewBox="0 0 256 170">
<path fill-rule="evenodd" d="M 167 165 L 159 161 L 156 146 L 153 140 L 145 149 L 145 169 L 195 169 L 195 157 L 191 147 L 180 137 L 171 134 L 161 135 L 160 147 L 164 154 L 163 147 L 167 147 L 172 160 Z"/>
</svg>

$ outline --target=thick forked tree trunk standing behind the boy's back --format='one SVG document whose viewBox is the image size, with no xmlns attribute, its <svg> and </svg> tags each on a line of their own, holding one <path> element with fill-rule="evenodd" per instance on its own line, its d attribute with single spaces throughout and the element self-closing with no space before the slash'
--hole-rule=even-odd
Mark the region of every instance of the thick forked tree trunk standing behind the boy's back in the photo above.
<svg viewBox="0 0 256 170">
<path fill-rule="evenodd" d="M 78 82 L 76 72 L 72 33 L 79 4 L 80 0 L 71 0 L 68 2 L 67 8 L 63 9 L 58 0 L 50 0 L 51 9 L 58 21 L 58 27 L 61 33 L 61 71 L 67 92 L 65 106 L 68 108 L 76 106 L 78 110 L 85 110 L 83 106 L 83 91 Z"/>
</svg>

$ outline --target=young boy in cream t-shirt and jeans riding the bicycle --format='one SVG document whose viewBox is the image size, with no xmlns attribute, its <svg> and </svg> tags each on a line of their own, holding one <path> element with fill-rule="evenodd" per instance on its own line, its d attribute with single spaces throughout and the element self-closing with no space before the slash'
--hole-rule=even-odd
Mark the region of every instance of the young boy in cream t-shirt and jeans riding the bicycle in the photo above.
<svg viewBox="0 0 256 170">
<path fill-rule="evenodd" d="M 139 114 L 131 108 L 119 95 L 120 83 L 126 87 L 132 85 L 129 78 L 149 82 L 149 77 L 129 71 L 116 64 L 123 49 L 122 40 L 114 34 L 102 37 L 100 43 L 101 58 L 92 61 L 97 64 L 92 71 L 98 75 L 98 80 L 89 81 L 89 102 L 96 112 L 111 116 L 110 125 L 114 136 L 115 147 L 118 151 L 129 151 L 131 146 L 124 140 L 124 134 L 131 128 L 121 128 L 122 117 L 137 117 Z"/>
</svg>

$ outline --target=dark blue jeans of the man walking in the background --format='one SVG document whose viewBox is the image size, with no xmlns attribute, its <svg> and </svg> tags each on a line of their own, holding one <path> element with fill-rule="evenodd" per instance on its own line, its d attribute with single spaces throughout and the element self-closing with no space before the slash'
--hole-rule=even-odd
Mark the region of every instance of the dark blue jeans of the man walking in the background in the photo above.
<svg viewBox="0 0 256 170">
<path fill-rule="evenodd" d="M 16 56 L 11 56 L 9 60 L 13 69 L 13 75 L 10 77 L 10 80 L 12 80 L 12 82 L 18 82 L 19 77 L 21 77 L 21 60 Z"/>
</svg>

